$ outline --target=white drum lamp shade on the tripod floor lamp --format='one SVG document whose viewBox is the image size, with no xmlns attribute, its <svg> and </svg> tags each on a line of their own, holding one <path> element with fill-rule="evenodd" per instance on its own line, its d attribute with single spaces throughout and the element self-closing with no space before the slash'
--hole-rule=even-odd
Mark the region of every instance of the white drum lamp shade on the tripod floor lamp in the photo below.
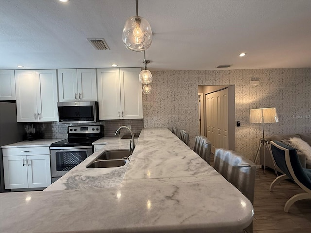
<svg viewBox="0 0 311 233">
<path fill-rule="evenodd" d="M 276 108 L 253 108 L 249 112 L 250 123 L 276 123 L 278 116 Z"/>
</svg>

